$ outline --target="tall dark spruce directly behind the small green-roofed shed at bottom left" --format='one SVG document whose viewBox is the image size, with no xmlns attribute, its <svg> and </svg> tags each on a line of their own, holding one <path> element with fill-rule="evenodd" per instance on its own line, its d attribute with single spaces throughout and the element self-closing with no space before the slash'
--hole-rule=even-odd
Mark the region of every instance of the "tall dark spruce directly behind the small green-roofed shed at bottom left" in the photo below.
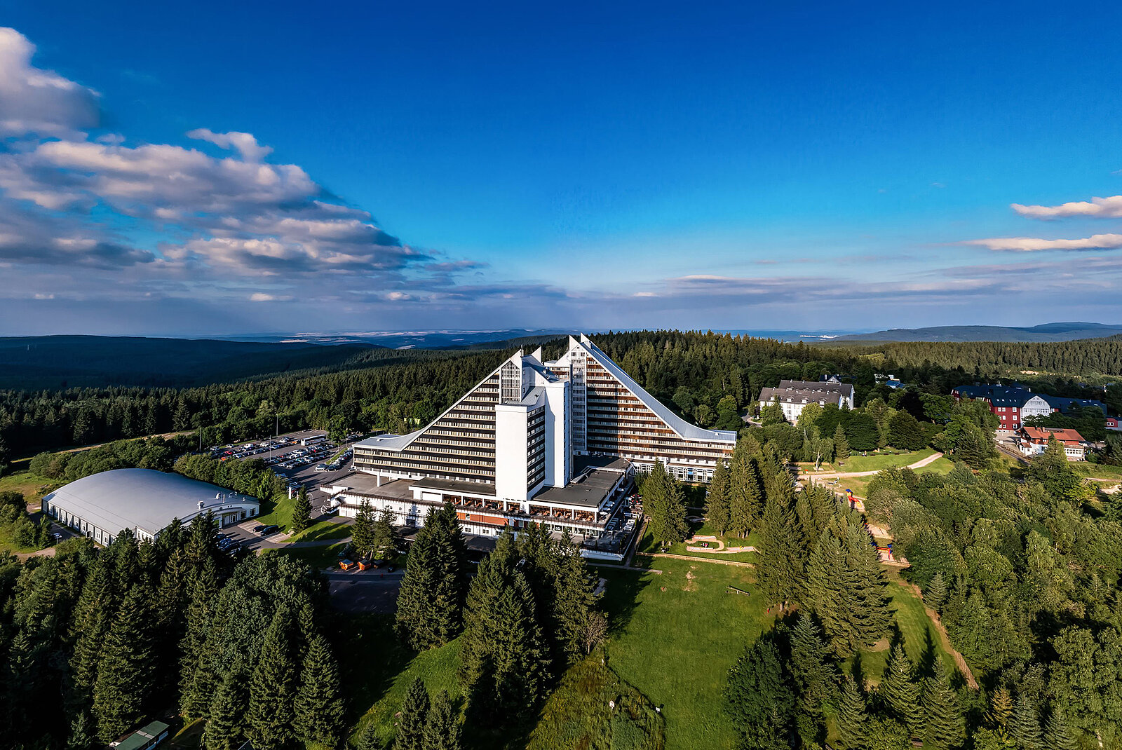
<svg viewBox="0 0 1122 750">
<path fill-rule="evenodd" d="M 151 589 L 142 583 L 125 594 L 109 627 L 93 686 L 98 737 L 117 739 L 142 719 L 155 687 Z"/>
</svg>

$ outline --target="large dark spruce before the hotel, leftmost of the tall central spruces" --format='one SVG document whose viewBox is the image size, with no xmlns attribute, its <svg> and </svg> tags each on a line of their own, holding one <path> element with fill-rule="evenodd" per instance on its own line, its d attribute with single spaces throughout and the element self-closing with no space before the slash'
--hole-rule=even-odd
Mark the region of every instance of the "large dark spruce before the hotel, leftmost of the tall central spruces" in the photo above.
<svg viewBox="0 0 1122 750">
<path fill-rule="evenodd" d="M 397 596 L 397 633 L 412 648 L 441 646 L 460 633 L 466 558 L 456 508 L 431 510 L 410 547 Z"/>
</svg>

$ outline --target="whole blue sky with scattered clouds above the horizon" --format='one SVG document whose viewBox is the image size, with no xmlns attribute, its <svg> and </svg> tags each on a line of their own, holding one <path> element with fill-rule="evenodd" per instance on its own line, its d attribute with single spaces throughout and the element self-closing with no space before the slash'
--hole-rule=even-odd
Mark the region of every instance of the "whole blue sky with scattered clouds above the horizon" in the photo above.
<svg viewBox="0 0 1122 750">
<path fill-rule="evenodd" d="M 1122 8 L 986 4 L 0 1 L 0 334 L 1120 323 Z"/>
</svg>

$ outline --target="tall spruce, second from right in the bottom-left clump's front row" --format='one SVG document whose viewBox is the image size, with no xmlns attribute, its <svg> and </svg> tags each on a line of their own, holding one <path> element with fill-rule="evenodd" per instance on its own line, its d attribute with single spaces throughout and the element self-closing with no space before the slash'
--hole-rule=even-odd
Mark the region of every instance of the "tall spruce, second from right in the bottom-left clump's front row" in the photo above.
<svg viewBox="0 0 1122 750">
<path fill-rule="evenodd" d="M 293 737 L 297 668 L 291 627 L 288 610 L 278 609 L 265 631 L 260 658 L 250 675 L 246 723 L 247 735 L 256 748 L 278 748 Z"/>
</svg>

